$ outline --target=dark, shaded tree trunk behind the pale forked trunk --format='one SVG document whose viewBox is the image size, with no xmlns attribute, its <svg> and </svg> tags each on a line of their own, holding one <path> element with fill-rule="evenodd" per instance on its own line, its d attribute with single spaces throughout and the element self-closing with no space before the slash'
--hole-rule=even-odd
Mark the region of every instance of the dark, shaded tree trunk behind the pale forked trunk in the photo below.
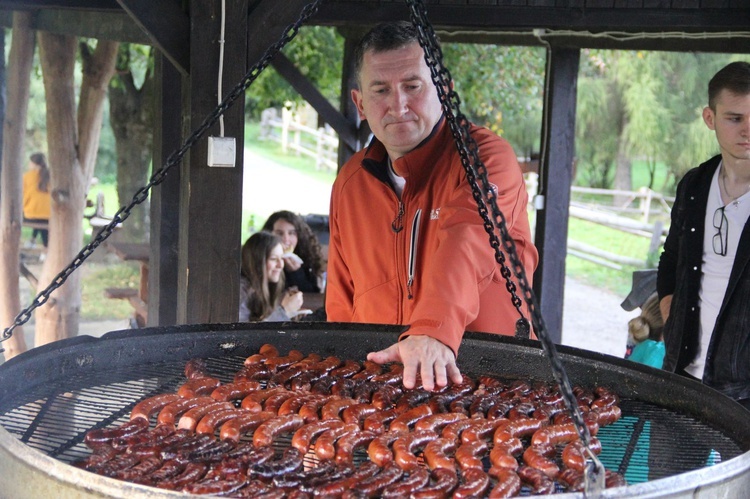
<svg viewBox="0 0 750 499">
<path fill-rule="evenodd" d="M 153 143 L 153 73 L 148 72 L 140 89 L 130 71 L 116 77 L 109 90 L 109 120 L 117 150 L 117 197 L 120 206 L 148 182 Z M 136 206 L 122 224 L 118 239 L 148 241 L 148 201 Z"/>
</svg>

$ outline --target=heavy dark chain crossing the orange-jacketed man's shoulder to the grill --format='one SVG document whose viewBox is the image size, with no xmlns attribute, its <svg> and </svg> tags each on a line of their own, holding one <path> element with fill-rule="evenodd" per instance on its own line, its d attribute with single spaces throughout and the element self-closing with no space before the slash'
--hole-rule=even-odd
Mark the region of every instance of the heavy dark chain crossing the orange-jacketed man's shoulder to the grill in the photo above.
<svg viewBox="0 0 750 499">
<path fill-rule="evenodd" d="M 513 305 L 520 310 L 520 299 L 515 294 L 515 285 L 510 280 L 510 270 L 505 265 L 505 256 L 500 251 L 500 242 L 498 241 L 497 234 L 494 228 L 496 227 L 502 238 L 502 247 L 507 253 L 508 258 L 513 266 L 513 272 L 518 280 L 518 285 L 523 292 L 524 299 L 528 305 L 529 312 L 531 314 L 532 324 L 534 331 L 537 334 L 544 352 L 549 359 L 552 373 L 560 387 L 565 404 L 568 411 L 573 418 L 575 423 L 576 431 L 578 436 L 581 438 L 587 448 L 587 454 L 589 456 L 589 464 L 593 463 L 593 466 L 587 466 L 586 474 L 586 488 L 588 491 L 589 485 L 593 491 L 603 488 L 604 483 L 604 467 L 602 466 L 596 455 L 591 452 L 591 433 L 586 426 L 581 411 L 578 408 L 576 397 L 573 394 L 573 389 L 570 385 L 570 380 L 567 373 L 565 372 L 565 366 L 563 366 L 562 360 L 557 354 L 555 344 L 550 340 L 547 335 L 547 331 L 544 325 L 544 319 L 539 311 L 539 307 L 536 304 L 536 298 L 534 293 L 529 286 L 526 278 L 525 269 L 518 257 L 516 251 L 516 245 L 508 232 L 508 226 L 506 223 L 505 216 L 497 206 L 497 196 L 494 189 L 492 188 L 489 179 L 487 177 L 487 168 L 479 158 L 476 141 L 470 134 L 470 123 L 468 119 L 461 113 L 460 110 L 460 98 L 458 93 L 453 90 L 451 85 L 450 72 L 443 66 L 443 53 L 440 49 L 435 31 L 432 28 L 431 23 L 427 19 L 427 10 L 422 0 L 406 0 L 411 10 L 412 23 L 418 30 L 419 43 L 425 52 L 425 62 L 430 68 L 432 75 L 432 81 L 437 89 L 438 97 L 443 106 L 443 111 L 446 116 L 446 120 L 453 133 L 453 138 L 456 141 L 456 147 L 461 156 L 461 164 L 466 170 L 466 175 L 471 185 L 472 195 L 477 201 L 479 214 L 484 221 L 484 227 L 490 236 L 490 245 L 495 250 L 495 258 L 502 267 L 502 275 L 507 281 L 507 288 L 510 292 L 513 300 Z M 446 93 L 447 91 L 447 93 Z M 477 185 L 477 176 L 482 182 L 482 189 L 484 195 Z M 487 204 L 492 209 L 492 215 L 494 220 L 490 220 Z M 593 477 L 592 480 L 588 478 Z"/>
</svg>

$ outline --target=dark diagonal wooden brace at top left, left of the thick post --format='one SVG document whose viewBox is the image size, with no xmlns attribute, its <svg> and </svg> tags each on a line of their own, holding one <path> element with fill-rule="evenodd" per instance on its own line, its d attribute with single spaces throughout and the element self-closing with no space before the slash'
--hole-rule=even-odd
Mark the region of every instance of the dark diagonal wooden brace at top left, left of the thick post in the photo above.
<svg viewBox="0 0 750 499">
<path fill-rule="evenodd" d="M 190 73 L 190 18 L 176 0 L 117 0 L 158 48 L 184 75 Z"/>
</svg>

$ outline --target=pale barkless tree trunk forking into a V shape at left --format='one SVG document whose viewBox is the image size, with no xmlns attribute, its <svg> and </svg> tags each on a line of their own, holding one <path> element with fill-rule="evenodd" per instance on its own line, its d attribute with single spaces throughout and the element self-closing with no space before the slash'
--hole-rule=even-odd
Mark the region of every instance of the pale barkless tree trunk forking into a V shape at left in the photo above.
<svg viewBox="0 0 750 499">
<path fill-rule="evenodd" d="M 81 44 L 83 80 L 76 113 L 73 73 L 77 41 L 67 35 L 39 34 L 52 197 L 49 247 L 40 287 L 52 282 L 81 250 L 86 193 L 96 163 L 104 99 L 114 74 L 117 46 L 117 42 L 100 40 L 89 52 Z M 38 309 L 36 345 L 77 335 L 80 309 L 80 273 L 75 271 Z"/>
</svg>

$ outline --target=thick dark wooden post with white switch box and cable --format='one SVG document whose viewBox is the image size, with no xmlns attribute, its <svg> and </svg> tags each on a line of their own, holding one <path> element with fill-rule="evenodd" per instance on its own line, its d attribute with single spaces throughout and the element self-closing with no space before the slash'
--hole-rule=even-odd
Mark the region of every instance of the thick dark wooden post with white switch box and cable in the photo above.
<svg viewBox="0 0 750 499">
<path fill-rule="evenodd" d="M 185 109 L 191 130 L 214 112 L 219 100 L 221 3 L 190 0 L 190 105 Z M 226 0 L 226 9 L 222 98 L 246 71 L 243 61 L 247 60 L 248 0 Z M 183 161 L 178 323 L 236 322 L 239 317 L 244 104 L 241 93 L 223 114 L 224 136 L 236 141 L 233 168 L 207 166 L 208 137 L 220 135 L 219 123 L 208 129 Z"/>
</svg>

